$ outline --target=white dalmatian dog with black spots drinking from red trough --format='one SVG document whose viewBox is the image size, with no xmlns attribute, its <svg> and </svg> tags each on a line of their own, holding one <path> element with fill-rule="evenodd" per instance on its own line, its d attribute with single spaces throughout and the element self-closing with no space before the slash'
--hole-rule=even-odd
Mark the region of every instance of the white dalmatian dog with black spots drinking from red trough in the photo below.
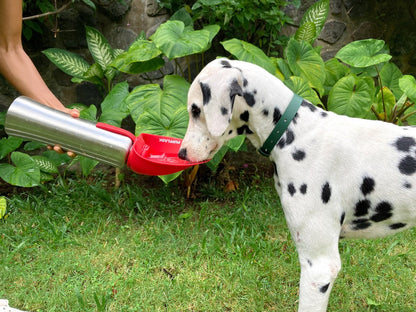
<svg viewBox="0 0 416 312">
<path fill-rule="evenodd" d="M 246 134 L 260 147 L 294 93 L 264 69 L 217 59 L 195 78 L 179 157 L 210 159 Z M 340 116 L 303 100 L 270 160 L 301 266 L 299 310 L 326 311 L 340 238 L 376 238 L 416 222 L 416 128 Z"/>
</svg>

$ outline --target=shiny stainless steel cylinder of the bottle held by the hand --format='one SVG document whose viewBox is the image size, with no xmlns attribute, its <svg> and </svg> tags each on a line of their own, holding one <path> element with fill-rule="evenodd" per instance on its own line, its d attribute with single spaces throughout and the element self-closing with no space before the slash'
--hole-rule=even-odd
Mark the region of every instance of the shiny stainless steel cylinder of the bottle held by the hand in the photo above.
<svg viewBox="0 0 416 312">
<path fill-rule="evenodd" d="M 124 135 L 106 131 L 85 119 L 35 102 L 25 96 L 10 105 L 5 120 L 8 135 L 55 145 L 103 163 L 122 167 L 133 144 Z"/>
</svg>

